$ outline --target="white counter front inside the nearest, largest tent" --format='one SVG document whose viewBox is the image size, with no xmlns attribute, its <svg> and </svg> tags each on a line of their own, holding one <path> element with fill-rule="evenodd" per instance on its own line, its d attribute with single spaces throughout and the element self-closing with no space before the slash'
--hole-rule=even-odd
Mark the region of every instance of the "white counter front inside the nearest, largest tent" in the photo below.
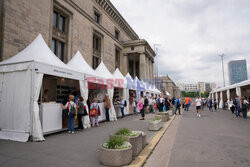
<svg viewBox="0 0 250 167">
<path fill-rule="evenodd" d="M 57 103 L 42 103 L 40 105 L 40 119 L 44 134 L 62 129 L 62 108 Z"/>
</svg>

